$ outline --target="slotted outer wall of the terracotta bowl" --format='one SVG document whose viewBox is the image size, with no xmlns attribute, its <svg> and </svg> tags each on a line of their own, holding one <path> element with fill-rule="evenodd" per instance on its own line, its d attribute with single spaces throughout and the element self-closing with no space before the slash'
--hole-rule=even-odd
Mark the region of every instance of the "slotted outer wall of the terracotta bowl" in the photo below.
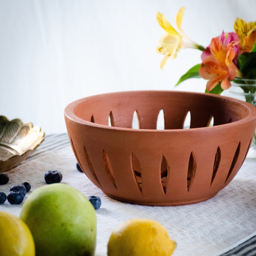
<svg viewBox="0 0 256 256">
<path fill-rule="evenodd" d="M 83 100 L 73 102 L 65 109 L 67 131 L 79 164 L 89 179 L 107 195 L 136 204 L 178 205 L 211 198 L 239 171 L 256 127 L 256 110 L 245 102 L 243 105 L 249 111 L 248 116 L 230 124 L 186 130 L 135 130 L 80 119 L 73 114 L 73 108 Z M 239 154 L 236 154 L 239 143 Z M 212 182 L 218 148 L 221 148 L 221 161 Z M 111 163 L 114 183 L 105 172 L 103 150 Z M 89 155 L 91 166 L 88 166 L 85 154 Z M 191 154 L 195 157 L 196 172 L 188 191 Z M 140 160 L 142 192 L 131 171 L 131 155 Z M 155 171 L 161 168 L 163 157 L 169 169 L 166 192 L 163 191 L 159 172 Z"/>
</svg>

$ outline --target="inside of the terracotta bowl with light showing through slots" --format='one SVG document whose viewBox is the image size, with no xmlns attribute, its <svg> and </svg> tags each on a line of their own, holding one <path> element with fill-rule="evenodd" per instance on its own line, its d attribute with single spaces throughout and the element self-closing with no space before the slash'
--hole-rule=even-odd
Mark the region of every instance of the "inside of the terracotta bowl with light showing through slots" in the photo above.
<svg viewBox="0 0 256 256">
<path fill-rule="evenodd" d="M 162 123 L 163 129 L 183 129 L 188 121 L 189 128 L 236 122 L 248 116 L 249 110 L 243 102 L 205 93 L 134 91 L 81 99 L 73 114 L 119 128 L 134 128 L 135 123 L 135 128 L 157 129 Z"/>
</svg>

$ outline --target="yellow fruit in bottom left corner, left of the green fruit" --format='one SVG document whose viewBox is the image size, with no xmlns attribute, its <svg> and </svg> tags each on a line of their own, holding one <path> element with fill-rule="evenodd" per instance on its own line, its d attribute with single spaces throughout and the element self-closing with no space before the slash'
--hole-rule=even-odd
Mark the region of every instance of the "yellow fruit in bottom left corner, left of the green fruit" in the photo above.
<svg viewBox="0 0 256 256">
<path fill-rule="evenodd" d="M 0 212 L 0 256 L 35 256 L 29 228 L 15 215 Z"/>
</svg>

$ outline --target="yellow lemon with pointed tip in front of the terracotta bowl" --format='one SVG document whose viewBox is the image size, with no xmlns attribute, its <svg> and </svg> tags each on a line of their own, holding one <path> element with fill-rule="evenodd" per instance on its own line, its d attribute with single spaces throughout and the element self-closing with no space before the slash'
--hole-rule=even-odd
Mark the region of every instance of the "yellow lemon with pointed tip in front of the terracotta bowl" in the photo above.
<svg viewBox="0 0 256 256">
<path fill-rule="evenodd" d="M 170 256 L 176 242 L 160 223 L 131 219 L 118 225 L 108 241 L 108 256 Z"/>
</svg>

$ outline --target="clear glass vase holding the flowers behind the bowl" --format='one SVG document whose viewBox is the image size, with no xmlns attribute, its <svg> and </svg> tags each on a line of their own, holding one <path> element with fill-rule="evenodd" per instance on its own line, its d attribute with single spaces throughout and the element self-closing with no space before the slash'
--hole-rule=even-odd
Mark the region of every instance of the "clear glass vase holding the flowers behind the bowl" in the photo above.
<svg viewBox="0 0 256 256">
<path fill-rule="evenodd" d="M 223 95 L 240 99 L 256 106 L 256 79 L 237 78 L 231 81 L 231 87 L 225 90 Z M 256 132 L 246 159 L 256 160 Z"/>
</svg>

